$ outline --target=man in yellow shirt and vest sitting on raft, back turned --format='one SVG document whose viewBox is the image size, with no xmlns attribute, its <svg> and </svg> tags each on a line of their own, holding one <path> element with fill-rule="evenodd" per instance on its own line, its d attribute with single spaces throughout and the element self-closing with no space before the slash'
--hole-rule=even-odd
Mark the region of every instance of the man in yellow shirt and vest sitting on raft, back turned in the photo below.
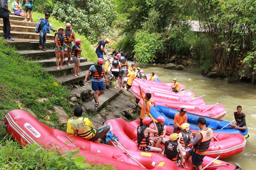
<svg viewBox="0 0 256 170">
<path fill-rule="evenodd" d="M 80 106 L 76 106 L 73 111 L 73 118 L 68 120 L 67 133 L 77 134 L 79 137 L 90 141 L 98 142 L 98 139 L 108 133 L 109 125 L 93 128 L 92 122 L 88 118 L 82 117 L 83 110 Z"/>
</svg>

